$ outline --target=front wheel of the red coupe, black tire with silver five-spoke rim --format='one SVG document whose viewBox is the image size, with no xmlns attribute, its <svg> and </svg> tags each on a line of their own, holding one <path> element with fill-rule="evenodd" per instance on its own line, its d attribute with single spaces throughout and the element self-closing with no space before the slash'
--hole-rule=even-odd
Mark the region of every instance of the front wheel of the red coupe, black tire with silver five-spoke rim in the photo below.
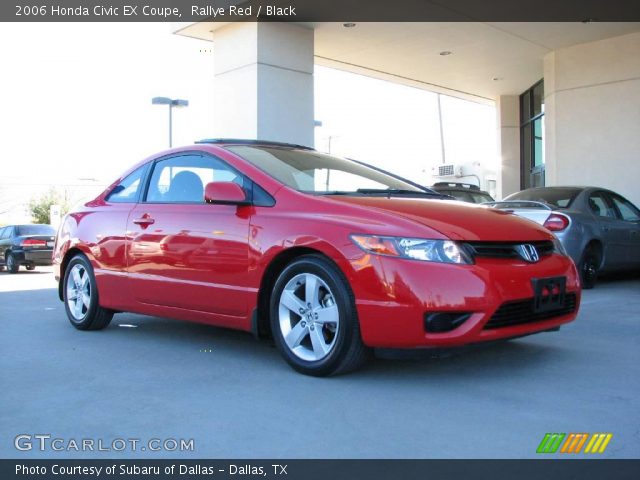
<svg viewBox="0 0 640 480">
<path fill-rule="evenodd" d="M 271 295 L 270 318 L 278 350 L 300 373 L 337 375 L 366 361 L 351 288 L 322 256 L 299 257 L 282 271 Z"/>
</svg>

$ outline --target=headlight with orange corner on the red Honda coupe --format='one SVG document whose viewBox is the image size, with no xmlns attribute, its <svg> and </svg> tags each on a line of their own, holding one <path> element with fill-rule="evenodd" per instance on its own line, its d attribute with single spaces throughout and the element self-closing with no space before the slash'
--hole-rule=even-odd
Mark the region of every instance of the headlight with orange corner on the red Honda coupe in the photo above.
<svg viewBox="0 0 640 480">
<path fill-rule="evenodd" d="M 351 240 L 367 253 L 410 258 L 425 262 L 471 264 L 473 258 L 452 240 L 351 235 Z"/>
</svg>

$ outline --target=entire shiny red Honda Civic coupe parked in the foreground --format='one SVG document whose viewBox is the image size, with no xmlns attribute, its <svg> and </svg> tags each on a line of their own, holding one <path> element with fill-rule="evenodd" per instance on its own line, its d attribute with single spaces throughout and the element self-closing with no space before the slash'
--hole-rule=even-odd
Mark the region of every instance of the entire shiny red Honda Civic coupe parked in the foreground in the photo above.
<svg viewBox="0 0 640 480">
<path fill-rule="evenodd" d="M 272 337 L 296 370 L 575 319 L 575 265 L 543 227 L 362 163 L 214 139 L 154 155 L 69 213 L 54 248 L 80 330 L 135 312 Z"/>
</svg>

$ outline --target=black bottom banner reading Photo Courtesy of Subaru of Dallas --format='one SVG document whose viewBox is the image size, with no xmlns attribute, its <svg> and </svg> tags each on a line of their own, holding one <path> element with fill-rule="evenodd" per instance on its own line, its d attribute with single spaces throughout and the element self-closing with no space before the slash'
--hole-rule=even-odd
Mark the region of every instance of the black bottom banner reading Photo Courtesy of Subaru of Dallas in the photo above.
<svg viewBox="0 0 640 480">
<path fill-rule="evenodd" d="M 640 460 L 0 460 L 0 478 L 636 480 Z"/>
</svg>

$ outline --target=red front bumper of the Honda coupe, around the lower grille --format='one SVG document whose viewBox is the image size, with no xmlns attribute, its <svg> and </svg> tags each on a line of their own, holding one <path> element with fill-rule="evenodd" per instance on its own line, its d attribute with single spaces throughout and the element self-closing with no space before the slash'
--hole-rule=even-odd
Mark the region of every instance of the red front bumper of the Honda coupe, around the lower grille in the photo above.
<svg viewBox="0 0 640 480">
<path fill-rule="evenodd" d="M 556 254 L 535 264 L 485 258 L 475 265 L 364 255 L 351 266 L 362 339 L 370 347 L 453 347 L 528 335 L 574 320 L 580 304 L 575 265 Z M 532 279 L 561 276 L 566 278 L 567 296 L 575 299 L 573 311 L 487 328 L 503 304 L 533 299 Z M 469 312 L 471 316 L 454 330 L 429 333 L 424 319 L 432 312 Z"/>
</svg>

